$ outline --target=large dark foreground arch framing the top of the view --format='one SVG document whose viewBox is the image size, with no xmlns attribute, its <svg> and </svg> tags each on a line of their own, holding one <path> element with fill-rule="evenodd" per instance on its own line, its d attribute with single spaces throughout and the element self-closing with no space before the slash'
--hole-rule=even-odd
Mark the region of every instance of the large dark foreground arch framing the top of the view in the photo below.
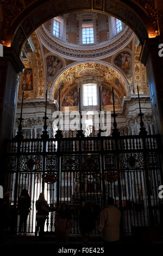
<svg viewBox="0 0 163 256">
<path fill-rule="evenodd" d="M 121 19 L 133 29 L 142 44 L 148 37 L 155 37 L 156 24 L 144 4 L 140 5 L 136 0 L 43 0 L 30 1 L 27 6 L 20 2 L 22 1 L 17 1 L 17 9 L 11 14 L 5 7 L 5 1 L 2 2 L 4 13 L 2 40 L 5 46 L 12 46 L 17 55 L 20 54 L 29 35 L 43 22 L 54 16 L 77 10 L 98 11 Z M 9 25 L 10 20 L 11 25 Z"/>
</svg>

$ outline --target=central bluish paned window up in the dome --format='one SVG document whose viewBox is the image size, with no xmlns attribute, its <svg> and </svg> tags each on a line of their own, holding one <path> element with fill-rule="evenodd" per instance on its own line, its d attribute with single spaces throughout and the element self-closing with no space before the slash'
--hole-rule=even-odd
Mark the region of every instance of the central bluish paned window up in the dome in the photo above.
<svg viewBox="0 0 163 256">
<path fill-rule="evenodd" d="M 82 43 L 83 44 L 93 44 L 93 25 L 86 24 L 82 25 Z"/>
</svg>

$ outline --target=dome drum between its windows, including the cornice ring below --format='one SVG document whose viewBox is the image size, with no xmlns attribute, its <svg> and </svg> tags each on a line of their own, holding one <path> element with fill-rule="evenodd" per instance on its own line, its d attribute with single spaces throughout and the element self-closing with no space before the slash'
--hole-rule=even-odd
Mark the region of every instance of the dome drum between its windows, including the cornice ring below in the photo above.
<svg viewBox="0 0 163 256">
<path fill-rule="evenodd" d="M 55 19 L 55 18 L 54 18 Z M 49 51 L 55 51 L 62 57 L 70 59 L 95 58 L 110 56 L 112 53 L 128 45 L 134 33 L 122 23 L 122 31 L 115 33 L 114 17 L 99 13 L 71 13 L 56 19 L 62 19 L 65 23 L 62 36 L 53 35 L 53 19 L 47 21 L 37 29 L 42 44 Z M 94 28 L 93 44 L 82 44 L 82 23 L 92 22 Z"/>
</svg>

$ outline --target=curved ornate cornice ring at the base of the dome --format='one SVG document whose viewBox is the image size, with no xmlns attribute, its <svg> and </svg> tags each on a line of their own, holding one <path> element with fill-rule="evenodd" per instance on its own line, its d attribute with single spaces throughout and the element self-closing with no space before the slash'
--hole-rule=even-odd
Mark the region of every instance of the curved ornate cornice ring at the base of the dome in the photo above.
<svg viewBox="0 0 163 256">
<path fill-rule="evenodd" d="M 40 35 L 42 45 L 48 47 L 49 51 L 57 52 L 65 58 L 68 57 L 72 59 L 98 59 L 110 56 L 110 54 L 113 54 L 117 50 L 120 50 L 124 46 L 128 45 L 134 36 L 134 32 L 131 31 L 129 27 L 126 27 L 126 29 L 124 29 L 124 31 L 118 37 L 107 42 L 105 45 L 100 46 L 97 44 L 94 47 L 84 48 L 82 46 L 73 47 L 70 45 L 67 47 L 66 44 L 59 43 L 57 40 L 55 40 L 54 36 L 49 34 L 44 26 L 41 26 L 39 29 L 37 29 L 37 31 Z"/>
</svg>

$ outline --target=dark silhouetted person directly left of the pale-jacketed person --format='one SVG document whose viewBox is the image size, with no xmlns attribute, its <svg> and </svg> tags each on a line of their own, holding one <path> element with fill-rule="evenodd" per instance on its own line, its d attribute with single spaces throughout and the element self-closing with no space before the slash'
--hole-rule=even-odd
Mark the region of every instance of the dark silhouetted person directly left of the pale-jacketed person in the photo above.
<svg viewBox="0 0 163 256">
<path fill-rule="evenodd" d="M 83 235 L 83 243 L 87 245 L 89 243 L 90 232 L 95 228 L 95 212 L 93 211 L 91 202 L 86 202 L 80 210 L 79 226 Z"/>
</svg>

